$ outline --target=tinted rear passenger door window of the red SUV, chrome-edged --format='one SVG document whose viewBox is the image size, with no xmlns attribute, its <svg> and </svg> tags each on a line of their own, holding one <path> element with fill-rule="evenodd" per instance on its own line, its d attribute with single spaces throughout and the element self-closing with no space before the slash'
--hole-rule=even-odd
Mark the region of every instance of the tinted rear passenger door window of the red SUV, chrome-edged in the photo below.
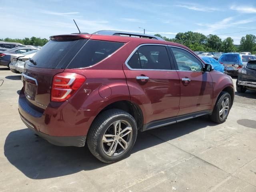
<svg viewBox="0 0 256 192">
<path fill-rule="evenodd" d="M 128 61 L 133 69 L 170 70 L 171 63 L 165 46 L 144 45 Z"/>
</svg>

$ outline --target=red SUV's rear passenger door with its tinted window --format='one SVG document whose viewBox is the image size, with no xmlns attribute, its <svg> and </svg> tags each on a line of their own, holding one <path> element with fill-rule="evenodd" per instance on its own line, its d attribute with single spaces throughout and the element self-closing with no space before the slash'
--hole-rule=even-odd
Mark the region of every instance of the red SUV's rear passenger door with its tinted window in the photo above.
<svg viewBox="0 0 256 192">
<path fill-rule="evenodd" d="M 123 66 L 131 100 L 144 112 L 144 124 L 176 117 L 179 112 L 179 77 L 171 68 L 168 47 L 141 45 Z"/>
</svg>

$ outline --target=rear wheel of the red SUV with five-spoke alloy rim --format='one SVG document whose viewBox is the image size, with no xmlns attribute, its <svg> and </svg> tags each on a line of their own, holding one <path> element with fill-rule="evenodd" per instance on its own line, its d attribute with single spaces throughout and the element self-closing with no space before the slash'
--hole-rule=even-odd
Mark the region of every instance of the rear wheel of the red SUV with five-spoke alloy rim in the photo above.
<svg viewBox="0 0 256 192">
<path fill-rule="evenodd" d="M 116 125 L 116 133 L 114 133 L 114 125 Z M 119 129 L 119 127 L 121 128 Z M 136 138 L 135 119 L 123 110 L 110 109 L 96 117 L 86 140 L 90 152 L 96 158 L 105 163 L 113 163 L 122 160 L 129 154 Z M 112 150 L 110 150 L 111 146 Z"/>
</svg>

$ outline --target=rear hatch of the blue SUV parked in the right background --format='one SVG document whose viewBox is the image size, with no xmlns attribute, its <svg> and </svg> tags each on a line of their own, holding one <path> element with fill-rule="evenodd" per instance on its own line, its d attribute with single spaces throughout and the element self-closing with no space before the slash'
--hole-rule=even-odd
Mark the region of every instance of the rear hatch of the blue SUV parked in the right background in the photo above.
<svg viewBox="0 0 256 192">
<path fill-rule="evenodd" d="M 223 54 L 218 62 L 224 65 L 225 70 L 238 70 L 238 67 L 242 65 L 239 54 Z"/>
</svg>

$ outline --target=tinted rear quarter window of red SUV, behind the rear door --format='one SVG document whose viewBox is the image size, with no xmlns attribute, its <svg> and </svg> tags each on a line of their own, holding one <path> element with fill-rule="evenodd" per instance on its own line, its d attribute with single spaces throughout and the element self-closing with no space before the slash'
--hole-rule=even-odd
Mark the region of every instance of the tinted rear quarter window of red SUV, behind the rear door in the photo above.
<svg viewBox="0 0 256 192">
<path fill-rule="evenodd" d="M 88 40 L 67 68 L 92 66 L 118 50 L 124 43 Z"/>
</svg>

